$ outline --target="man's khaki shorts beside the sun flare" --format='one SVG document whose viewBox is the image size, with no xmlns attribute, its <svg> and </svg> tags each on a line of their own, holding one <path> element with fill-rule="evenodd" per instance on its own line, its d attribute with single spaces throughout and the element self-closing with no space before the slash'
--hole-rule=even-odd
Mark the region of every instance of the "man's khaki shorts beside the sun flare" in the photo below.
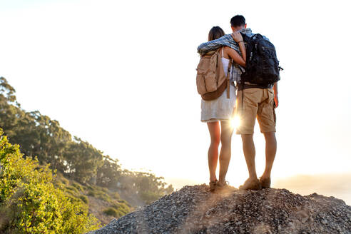
<svg viewBox="0 0 351 234">
<path fill-rule="evenodd" d="M 242 102 L 242 91 L 237 94 L 237 114 L 240 118 L 237 134 L 253 134 L 255 120 L 261 133 L 275 132 L 275 109 L 273 88 L 246 88 Z"/>
</svg>

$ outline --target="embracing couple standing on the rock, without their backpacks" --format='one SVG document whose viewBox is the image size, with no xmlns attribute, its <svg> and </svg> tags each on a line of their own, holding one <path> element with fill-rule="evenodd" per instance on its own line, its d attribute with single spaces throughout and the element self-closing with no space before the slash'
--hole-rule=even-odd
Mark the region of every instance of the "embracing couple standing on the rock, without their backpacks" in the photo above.
<svg viewBox="0 0 351 234">
<path fill-rule="evenodd" d="M 240 126 L 237 127 L 236 133 L 241 135 L 243 141 L 243 153 L 249 173 L 249 178 L 243 185 L 240 185 L 239 189 L 270 188 L 270 173 L 277 151 L 275 108 L 278 107 L 278 86 L 276 82 L 269 84 L 240 82 L 240 76 L 245 73 L 244 68 L 248 65 L 246 63 L 247 56 L 250 56 L 250 54 L 246 54 L 243 36 L 250 39 L 255 34 L 252 33 L 251 29 L 246 28 L 243 16 L 234 16 L 230 19 L 230 24 L 233 34 L 225 35 L 223 29 L 215 26 L 208 34 L 208 42 L 198 46 L 198 53 L 201 56 L 209 51 L 218 50 L 225 76 L 230 73 L 230 79 L 228 78 L 229 91 L 223 91 L 221 96 L 210 101 L 201 100 L 201 121 L 207 123 L 210 132 L 210 148 L 208 149 L 210 190 L 214 191 L 228 186 L 225 175 L 231 156 L 233 128 L 230 126 L 230 120 L 234 115 L 238 115 L 240 119 Z M 268 41 L 264 36 L 262 38 Z M 278 67 L 278 64 L 276 66 Z M 253 128 L 256 118 L 260 125 L 260 131 L 265 136 L 265 171 L 259 179 L 255 169 L 255 145 L 253 142 Z M 219 143 L 221 143 L 221 148 L 218 156 Z M 220 168 L 217 179 L 215 171 L 218 158 Z"/>
</svg>

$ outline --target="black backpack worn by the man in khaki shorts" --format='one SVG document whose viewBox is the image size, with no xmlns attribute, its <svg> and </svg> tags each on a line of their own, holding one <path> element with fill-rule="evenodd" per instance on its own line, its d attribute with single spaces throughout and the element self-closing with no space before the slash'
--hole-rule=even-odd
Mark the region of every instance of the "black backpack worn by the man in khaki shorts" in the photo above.
<svg viewBox="0 0 351 234">
<path fill-rule="evenodd" d="M 246 43 L 246 66 L 241 81 L 264 86 L 279 81 L 279 71 L 283 68 L 279 66 L 274 45 L 261 34 L 242 36 Z"/>
</svg>

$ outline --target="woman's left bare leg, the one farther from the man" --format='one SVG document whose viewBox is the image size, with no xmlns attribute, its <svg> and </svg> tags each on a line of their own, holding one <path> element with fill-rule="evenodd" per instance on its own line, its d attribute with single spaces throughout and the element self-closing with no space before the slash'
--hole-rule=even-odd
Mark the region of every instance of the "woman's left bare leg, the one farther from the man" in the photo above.
<svg viewBox="0 0 351 234">
<path fill-rule="evenodd" d="M 220 126 L 219 122 L 207 123 L 208 131 L 210 131 L 211 143 L 208 148 L 208 168 L 210 169 L 210 181 L 217 180 L 215 170 L 218 162 L 218 146 L 220 143 Z"/>
</svg>

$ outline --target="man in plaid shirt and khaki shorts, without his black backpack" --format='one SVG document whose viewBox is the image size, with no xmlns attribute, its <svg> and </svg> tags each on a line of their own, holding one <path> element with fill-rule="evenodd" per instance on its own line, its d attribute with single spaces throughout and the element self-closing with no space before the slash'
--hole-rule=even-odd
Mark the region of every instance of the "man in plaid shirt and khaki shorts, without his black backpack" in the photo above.
<svg viewBox="0 0 351 234">
<path fill-rule="evenodd" d="M 243 16 L 234 16 L 230 19 L 230 24 L 233 34 L 240 32 L 249 37 L 253 36 L 251 29 L 246 28 Z M 205 54 L 221 46 L 229 46 L 240 53 L 238 44 L 230 34 L 222 36 L 220 39 L 201 44 L 198 46 L 198 53 Z M 249 172 L 249 178 L 239 189 L 258 190 L 260 188 L 270 188 L 270 173 L 277 151 L 275 108 L 278 107 L 278 85 L 275 83 L 274 85 L 259 86 L 253 83 L 240 82 L 240 75 L 243 68 L 235 63 L 233 63 L 232 71 L 233 78 L 238 83 L 237 111 L 241 123 L 237 128 L 237 134 L 241 135 L 243 141 L 243 152 Z M 260 124 L 260 130 L 265 136 L 265 171 L 260 179 L 258 179 L 256 174 L 255 144 L 253 142 L 253 128 L 256 118 Z"/>
</svg>

